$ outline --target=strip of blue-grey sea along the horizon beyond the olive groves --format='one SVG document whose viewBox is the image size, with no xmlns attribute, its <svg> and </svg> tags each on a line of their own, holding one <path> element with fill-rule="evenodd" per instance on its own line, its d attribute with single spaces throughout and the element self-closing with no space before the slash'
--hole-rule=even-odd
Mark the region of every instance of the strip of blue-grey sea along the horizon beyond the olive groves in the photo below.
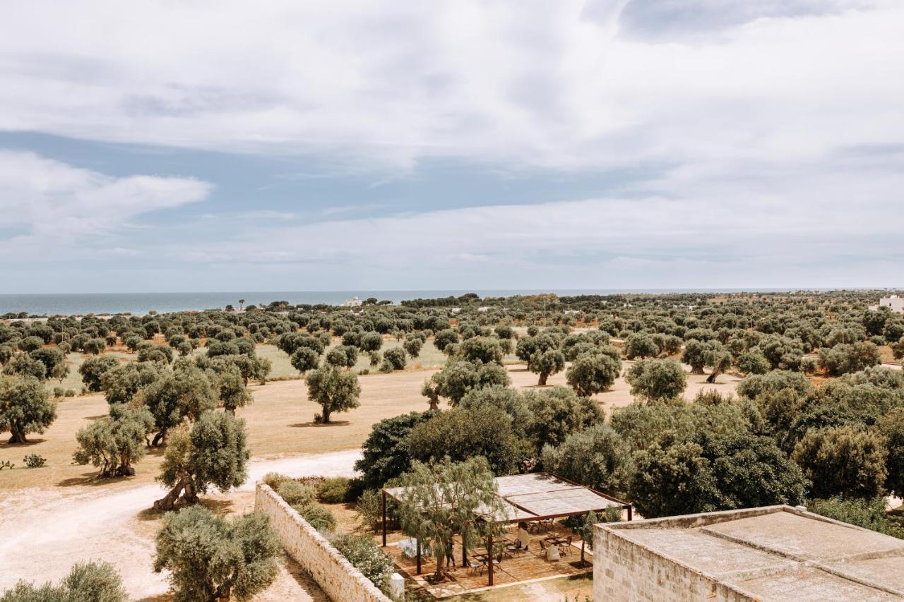
<svg viewBox="0 0 904 602">
<path fill-rule="evenodd" d="M 336 306 L 346 299 L 376 297 L 399 303 L 408 299 L 429 299 L 445 296 L 461 296 L 475 293 L 478 296 L 513 296 L 553 293 L 558 296 L 616 295 L 622 293 L 739 293 L 783 292 L 785 288 L 638 288 L 638 289 L 512 289 L 512 290 L 308 290 L 308 291 L 232 291 L 221 293 L 41 293 L 0 294 L 0 315 L 7 313 L 28 315 L 85 315 L 85 314 L 134 314 L 150 311 L 161 314 L 202 309 L 222 309 L 227 305 L 239 307 L 239 300 L 266 306 L 271 301 L 287 301 L 292 305 L 318 304 Z"/>
</svg>

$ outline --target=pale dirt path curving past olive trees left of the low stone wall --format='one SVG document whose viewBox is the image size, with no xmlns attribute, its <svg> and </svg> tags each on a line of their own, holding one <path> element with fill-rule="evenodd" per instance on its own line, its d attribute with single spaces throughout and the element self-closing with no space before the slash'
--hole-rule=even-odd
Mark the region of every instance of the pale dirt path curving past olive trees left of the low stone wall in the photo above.
<svg viewBox="0 0 904 602">
<path fill-rule="evenodd" d="M 253 504 L 255 482 L 270 471 L 287 475 L 353 475 L 359 451 L 253 461 L 249 479 L 229 495 L 212 496 L 218 505 Z M 102 487 L 30 488 L 0 495 L 0 590 L 20 579 L 57 580 L 78 560 L 107 560 L 125 581 L 131 597 L 153 599 L 165 594 L 163 575 L 152 570 L 157 516 L 146 512 L 162 494 L 146 484 L 110 492 Z M 291 563 L 281 569 L 289 578 Z M 286 586 L 279 586 L 285 588 Z M 303 588 L 303 587 L 302 587 Z M 288 592 L 286 592 L 288 593 Z M 292 599 L 305 599 L 296 597 Z M 279 597 L 261 599 L 279 599 Z M 311 599 L 317 599 L 313 597 Z"/>
</svg>

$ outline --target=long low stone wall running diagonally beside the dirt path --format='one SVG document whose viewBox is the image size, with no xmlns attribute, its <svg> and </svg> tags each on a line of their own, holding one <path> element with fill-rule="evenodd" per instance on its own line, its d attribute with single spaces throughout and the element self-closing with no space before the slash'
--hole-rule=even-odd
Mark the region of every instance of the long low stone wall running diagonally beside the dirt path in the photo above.
<svg viewBox="0 0 904 602">
<path fill-rule="evenodd" d="M 270 517 L 270 526 L 288 555 L 311 574 L 327 596 L 337 602 L 391 602 L 267 484 L 258 484 L 254 511 Z"/>
</svg>

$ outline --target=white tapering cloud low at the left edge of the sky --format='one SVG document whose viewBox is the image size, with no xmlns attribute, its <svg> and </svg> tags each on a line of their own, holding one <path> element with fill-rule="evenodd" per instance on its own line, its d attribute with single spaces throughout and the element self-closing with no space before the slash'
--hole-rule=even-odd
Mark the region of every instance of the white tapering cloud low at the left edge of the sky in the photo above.
<svg viewBox="0 0 904 602">
<path fill-rule="evenodd" d="M 210 190 L 209 183 L 193 179 L 112 177 L 33 153 L 0 150 L 0 228 L 19 233 L 0 241 L 0 253 L 23 253 L 42 243 L 51 243 L 42 249 L 48 254 L 68 243 L 91 244 L 129 227 L 140 215 L 202 201 Z"/>
</svg>

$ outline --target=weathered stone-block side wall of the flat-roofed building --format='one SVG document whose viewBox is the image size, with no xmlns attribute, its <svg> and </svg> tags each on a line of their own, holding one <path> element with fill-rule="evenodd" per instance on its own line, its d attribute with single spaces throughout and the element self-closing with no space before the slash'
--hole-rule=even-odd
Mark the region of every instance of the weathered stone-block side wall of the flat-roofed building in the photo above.
<svg viewBox="0 0 904 602">
<path fill-rule="evenodd" d="M 594 531 L 593 599 L 598 602 L 755 599 L 626 540 L 603 524 L 596 525 Z"/>
</svg>

